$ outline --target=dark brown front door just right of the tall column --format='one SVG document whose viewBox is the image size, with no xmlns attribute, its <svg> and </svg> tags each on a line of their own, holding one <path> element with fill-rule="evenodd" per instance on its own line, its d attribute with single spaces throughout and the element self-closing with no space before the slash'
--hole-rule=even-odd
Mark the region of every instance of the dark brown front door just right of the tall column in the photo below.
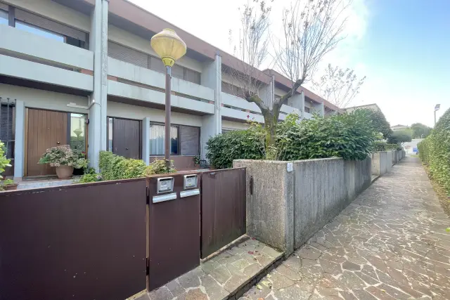
<svg viewBox="0 0 450 300">
<path fill-rule="evenodd" d="M 113 153 L 141 159 L 141 121 L 113 119 Z"/>
</svg>

